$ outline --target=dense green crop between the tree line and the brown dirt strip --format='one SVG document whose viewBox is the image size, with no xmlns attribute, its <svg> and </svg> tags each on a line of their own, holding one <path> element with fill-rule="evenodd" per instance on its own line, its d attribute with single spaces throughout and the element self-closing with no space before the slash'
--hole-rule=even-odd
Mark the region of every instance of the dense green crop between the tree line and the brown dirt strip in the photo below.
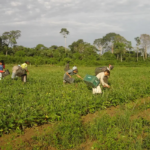
<svg viewBox="0 0 150 150">
<path fill-rule="evenodd" d="M 143 68 L 115 68 L 109 80 L 111 89 L 103 89 L 102 96 L 92 95 L 91 89 L 79 79 L 76 79 L 76 84 L 63 85 L 63 68 L 55 68 L 29 67 L 30 77 L 25 85 L 20 80 L 10 79 L 0 83 L 1 131 L 63 120 L 70 113 L 86 115 L 150 95 L 149 70 L 143 75 Z M 83 77 L 85 74 L 94 75 L 94 68 L 79 68 L 79 71 Z"/>
</svg>

